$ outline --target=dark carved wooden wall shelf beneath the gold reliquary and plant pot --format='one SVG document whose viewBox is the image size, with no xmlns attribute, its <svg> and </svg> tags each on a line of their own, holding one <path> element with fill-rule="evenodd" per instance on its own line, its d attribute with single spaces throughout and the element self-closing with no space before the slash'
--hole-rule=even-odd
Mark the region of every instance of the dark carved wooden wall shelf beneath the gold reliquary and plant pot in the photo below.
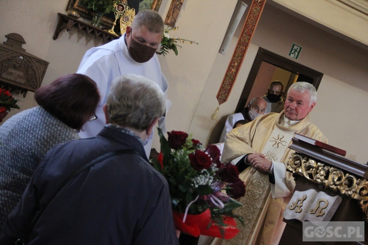
<svg viewBox="0 0 368 245">
<path fill-rule="evenodd" d="M 70 29 L 75 26 L 78 28 L 78 32 L 80 30 L 86 31 L 86 35 L 89 33 L 92 33 L 96 37 L 101 37 L 103 41 L 112 41 L 114 39 L 118 39 L 120 36 L 117 36 L 115 34 L 109 33 L 103 29 L 97 28 L 96 26 L 89 25 L 81 20 L 78 20 L 74 17 L 57 13 L 59 16 L 59 21 L 57 22 L 55 33 L 53 34 L 53 40 L 56 40 L 59 37 L 59 33 L 66 29 L 66 31 L 70 31 Z"/>
</svg>

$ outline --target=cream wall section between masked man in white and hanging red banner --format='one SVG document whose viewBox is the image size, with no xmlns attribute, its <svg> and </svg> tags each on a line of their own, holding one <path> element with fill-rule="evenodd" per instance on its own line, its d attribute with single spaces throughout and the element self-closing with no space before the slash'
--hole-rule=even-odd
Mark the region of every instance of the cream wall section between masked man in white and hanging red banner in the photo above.
<svg viewBox="0 0 368 245">
<path fill-rule="evenodd" d="M 192 131 L 189 125 L 236 3 L 237 0 L 228 0 L 226 5 L 220 0 L 184 1 L 176 22 L 179 29 L 172 31 L 170 36 L 196 41 L 199 45 L 181 45 L 183 48 L 179 49 L 178 56 L 173 52 L 159 56 L 162 71 L 169 81 L 168 95 L 173 101 L 167 114 L 168 131 Z M 168 7 L 169 4 L 165 13 Z M 159 147 L 158 141 L 156 143 L 154 147 Z"/>
</svg>

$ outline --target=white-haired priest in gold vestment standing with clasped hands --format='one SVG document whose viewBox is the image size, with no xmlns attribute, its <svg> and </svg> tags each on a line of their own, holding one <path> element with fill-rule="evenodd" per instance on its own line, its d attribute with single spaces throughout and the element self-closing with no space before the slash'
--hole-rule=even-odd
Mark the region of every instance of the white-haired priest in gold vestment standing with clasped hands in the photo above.
<svg viewBox="0 0 368 245">
<path fill-rule="evenodd" d="M 286 171 L 293 150 L 294 133 L 327 143 L 327 138 L 312 123 L 309 112 L 315 107 L 315 87 L 307 82 L 290 86 L 284 111 L 268 113 L 231 130 L 225 140 L 222 162 L 232 162 L 244 181 L 243 206 L 235 212 L 244 226 L 231 240 L 214 239 L 217 244 L 278 244 L 285 228 L 283 212 L 292 196 L 295 182 Z"/>
</svg>

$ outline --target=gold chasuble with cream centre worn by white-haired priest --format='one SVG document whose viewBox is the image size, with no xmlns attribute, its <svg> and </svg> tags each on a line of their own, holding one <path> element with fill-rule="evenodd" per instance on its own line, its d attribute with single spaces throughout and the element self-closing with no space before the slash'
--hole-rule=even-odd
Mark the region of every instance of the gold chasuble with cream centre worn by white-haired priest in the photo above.
<svg viewBox="0 0 368 245">
<path fill-rule="evenodd" d="M 309 114 L 287 127 L 283 126 L 284 118 L 284 112 L 268 113 L 231 130 L 226 136 L 221 161 L 226 163 L 241 155 L 262 152 L 273 162 L 275 185 L 270 184 L 268 174 L 258 172 L 252 166 L 240 173 L 239 177 L 245 183 L 245 196 L 239 198 L 243 206 L 235 213 L 244 218 L 244 226 L 238 224 L 240 232 L 237 236 L 223 240 L 222 244 L 278 244 L 281 238 L 285 228 L 282 214 L 295 187 L 294 179 L 285 167 L 293 152 L 289 148 L 291 138 L 298 133 L 327 143 L 323 133 L 311 122 Z M 273 198 L 272 195 L 278 196 L 274 190 L 279 186 L 284 187 L 289 195 Z M 220 242 L 221 239 L 215 239 L 212 244 Z"/>
</svg>

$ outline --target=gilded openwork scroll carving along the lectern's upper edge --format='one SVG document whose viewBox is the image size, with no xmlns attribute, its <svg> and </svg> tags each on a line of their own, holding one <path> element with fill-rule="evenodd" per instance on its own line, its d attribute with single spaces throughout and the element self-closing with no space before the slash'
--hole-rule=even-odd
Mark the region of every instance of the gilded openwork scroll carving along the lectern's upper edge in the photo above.
<svg viewBox="0 0 368 245">
<path fill-rule="evenodd" d="M 301 153 L 292 153 L 287 171 L 301 175 L 316 184 L 322 184 L 342 195 L 359 200 L 362 211 L 368 221 L 368 182 L 364 178 L 343 172 L 325 163 L 317 162 Z"/>
</svg>

